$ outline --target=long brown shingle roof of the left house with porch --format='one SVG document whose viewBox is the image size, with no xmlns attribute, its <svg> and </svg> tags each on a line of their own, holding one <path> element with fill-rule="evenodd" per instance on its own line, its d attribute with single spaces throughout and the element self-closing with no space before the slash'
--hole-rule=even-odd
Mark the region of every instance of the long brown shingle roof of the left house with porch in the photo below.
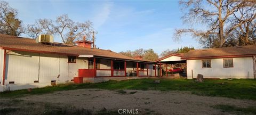
<svg viewBox="0 0 256 115">
<path fill-rule="evenodd" d="M 110 50 L 102 50 L 98 48 L 85 48 L 78 47 L 75 45 L 54 43 L 53 45 L 45 45 L 36 43 L 35 39 L 15 37 L 9 35 L 0 34 L 0 48 L 17 50 L 17 51 L 28 51 L 28 52 L 42 52 L 42 53 L 56 53 L 66 55 L 93 55 L 99 57 L 110 57 L 113 59 L 124 59 L 131 61 L 145 61 L 136 60 L 132 57 L 125 56 Z M 150 61 L 146 61 L 150 62 Z"/>
</svg>

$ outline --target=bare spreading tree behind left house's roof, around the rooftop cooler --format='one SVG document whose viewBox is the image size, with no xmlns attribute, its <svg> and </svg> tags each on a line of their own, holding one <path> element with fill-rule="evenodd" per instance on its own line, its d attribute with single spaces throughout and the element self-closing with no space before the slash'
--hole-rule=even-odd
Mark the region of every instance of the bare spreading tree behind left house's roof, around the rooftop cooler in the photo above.
<svg viewBox="0 0 256 115">
<path fill-rule="evenodd" d="M 55 21 L 51 19 L 39 19 L 34 24 L 28 25 L 29 36 L 36 38 L 39 34 L 51 34 L 60 36 L 63 43 L 74 44 L 75 40 L 81 40 L 83 36 L 90 37 L 92 22 L 74 22 L 67 14 L 60 15 Z"/>
</svg>

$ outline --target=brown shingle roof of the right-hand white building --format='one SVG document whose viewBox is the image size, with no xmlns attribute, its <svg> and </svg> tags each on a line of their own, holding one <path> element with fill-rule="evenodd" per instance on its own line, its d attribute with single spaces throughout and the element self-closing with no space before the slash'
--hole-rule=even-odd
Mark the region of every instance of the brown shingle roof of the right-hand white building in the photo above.
<svg viewBox="0 0 256 115">
<path fill-rule="evenodd" d="M 256 55 L 256 45 L 191 50 L 182 59 L 210 59 Z"/>
</svg>

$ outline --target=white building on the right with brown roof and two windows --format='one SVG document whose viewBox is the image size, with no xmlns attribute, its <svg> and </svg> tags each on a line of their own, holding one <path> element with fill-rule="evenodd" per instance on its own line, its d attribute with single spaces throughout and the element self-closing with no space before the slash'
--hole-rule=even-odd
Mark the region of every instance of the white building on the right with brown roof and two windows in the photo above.
<svg viewBox="0 0 256 115">
<path fill-rule="evenodd" d="M 171 54 L 156 61 L 161 65 L 186 63 L 188 79 L 202 74 L 204 78 L 256 78 L 256 45 L 208 48 Z"/>
</svg>

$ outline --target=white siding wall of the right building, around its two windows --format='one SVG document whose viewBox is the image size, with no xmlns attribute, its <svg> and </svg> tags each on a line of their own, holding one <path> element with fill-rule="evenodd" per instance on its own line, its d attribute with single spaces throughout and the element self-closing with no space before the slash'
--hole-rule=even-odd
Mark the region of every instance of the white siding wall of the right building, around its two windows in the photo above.
<svg viewBox="0 0 256 115">
<path fill-rule="evenodd" d="M 223 68 L 223 59 L 211 59 L 211 68 L 202 68 L 202 60 L 187 60 L 188 79 L 204 75 L 204 78 L 253 78 L 252 57 L 233 58 L 233 68 Z"/>
</svg>

